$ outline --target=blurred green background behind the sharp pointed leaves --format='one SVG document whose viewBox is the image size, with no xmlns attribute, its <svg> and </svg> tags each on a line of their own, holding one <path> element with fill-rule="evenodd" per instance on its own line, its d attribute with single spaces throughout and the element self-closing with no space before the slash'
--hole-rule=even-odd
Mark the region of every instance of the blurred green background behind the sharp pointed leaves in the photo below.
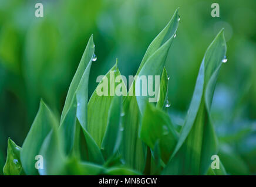
<svg viewBox="0 0 256 187">
<path fill-rule="evenodd" d="M 43 18 L 35 17 L 36 2 L 43 4 Z M 211 17 L 214 2 L 220 18 Z M 204 52 L 224 27 L 228 61 L 212 109 L 220 157 L 226 169 L 233 168 L 230 174 L 256 174 L 255 6 L 255 0 L 0 0 L 0 168 L 8 137 L 22 146 L 40 98 L 60 115 L 91 34 L 97 61 L 89 94 L 116 58 L 123 75 L 134 75 L 147 46 L 180 7 L 166 65 L 171 119 L 183 124 Z"/>
</svg>

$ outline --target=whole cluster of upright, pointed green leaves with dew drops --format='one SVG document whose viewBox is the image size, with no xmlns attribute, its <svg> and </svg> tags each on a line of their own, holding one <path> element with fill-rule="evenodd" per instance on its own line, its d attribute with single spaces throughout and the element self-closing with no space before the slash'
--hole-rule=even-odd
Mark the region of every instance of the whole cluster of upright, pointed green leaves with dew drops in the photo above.
<svg viewBox="0 0 256 187">
<path fill-rule="evenodd" d="M 41 101 L 38 114 L 22 147 L 8 140 L 5 175 L 206 175 L 225 174 L 211 169 L 218 154 L 210 108 L 218 71 L 225 57 L 223 30 L 208 47 L 183 127 L 173 124 L 166 112 L 168 75 L 164 68 L 178 27 L 178 10 L 152 41 L 136 75 L 161 75 L 159 101 L 147 96 L 99 96 L 88 101 L 90 67 L 95 44 L 90 37 L 70 84 L 60 120 Z M 111 68 L 120 75 L 117 64 Z M 108 72 L 102 81 L 122 88 Z M 106 79 L 106 80 L 105 80 Z M 100 82 L 101 84 L 101 82 Z M 120 86 L 122 84 L 122 86 Z M 119 87 L 118 87 L 119 86 Z M 136 79 L 129 91 L 135 92 Z M 96 88 L 97 89 L 97 88 Z M 35 168 L 36 155 L 43 169 Z"/>
</svg>

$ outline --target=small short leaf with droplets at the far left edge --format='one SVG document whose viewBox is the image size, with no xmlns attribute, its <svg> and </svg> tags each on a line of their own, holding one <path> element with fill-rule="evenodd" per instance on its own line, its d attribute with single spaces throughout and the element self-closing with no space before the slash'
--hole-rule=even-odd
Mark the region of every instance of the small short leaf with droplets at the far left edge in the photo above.
<svg viewBox="0 0 256 187">
<path fill-rule="evenodd" d="M 20 175 L 22 164 L 20 160 L 21 147 L 17 146 L 11 138 L 8 139 L 7 158 L 4 166 L 4 175 Z"/>
</svg>

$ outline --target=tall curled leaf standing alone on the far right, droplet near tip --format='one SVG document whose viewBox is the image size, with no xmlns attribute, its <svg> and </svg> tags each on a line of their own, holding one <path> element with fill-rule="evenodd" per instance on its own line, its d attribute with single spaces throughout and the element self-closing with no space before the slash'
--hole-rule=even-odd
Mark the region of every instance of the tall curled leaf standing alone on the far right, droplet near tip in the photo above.
<svg viewBox="0 0 256 187">
<path fill-rule="evenodd" d="M 217 154 L 218 143 L 210 107 L 225 53 L 224 32 L 221 30 L 204 55 L 186 121 L 174 153 L 164 168 L 164 175 L 204 175 L 210 166 L 211 156 Z"/>
</svg>

